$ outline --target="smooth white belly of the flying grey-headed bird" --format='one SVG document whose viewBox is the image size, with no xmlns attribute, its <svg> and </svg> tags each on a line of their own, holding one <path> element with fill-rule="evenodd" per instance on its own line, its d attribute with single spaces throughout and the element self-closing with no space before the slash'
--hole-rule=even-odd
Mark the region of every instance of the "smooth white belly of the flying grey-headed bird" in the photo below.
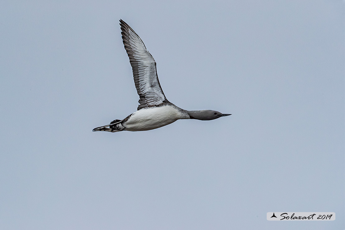
<svg viewBox="0 0 345 230">
<path fill-rule="evenodd" d="M 181 113 L 171 106 L 140 109 L 123 123 L 127 131 L 157 129 L 182 119 Z"/>
</svg>

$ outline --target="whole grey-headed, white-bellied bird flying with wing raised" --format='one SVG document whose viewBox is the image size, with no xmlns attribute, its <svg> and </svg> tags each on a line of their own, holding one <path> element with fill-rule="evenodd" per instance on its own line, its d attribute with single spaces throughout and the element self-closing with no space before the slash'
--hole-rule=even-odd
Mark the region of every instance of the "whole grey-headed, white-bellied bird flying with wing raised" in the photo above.
<svg viewBox="0 0 345 230">
<path fill-rule="evenodd" d="M 147 51 L 138 34 L 120 19 L 122 40 L 132 66 L 135 87 L 139 94 L 137 111 L 122 120 L 114 120 L 92 131 L 144 131 L 157 129 L 178 119 L 214 120 L 231 114 L 214 110 L 181 109 L 167 100 L 160 87 L 156 61 Z"/>
</svg>

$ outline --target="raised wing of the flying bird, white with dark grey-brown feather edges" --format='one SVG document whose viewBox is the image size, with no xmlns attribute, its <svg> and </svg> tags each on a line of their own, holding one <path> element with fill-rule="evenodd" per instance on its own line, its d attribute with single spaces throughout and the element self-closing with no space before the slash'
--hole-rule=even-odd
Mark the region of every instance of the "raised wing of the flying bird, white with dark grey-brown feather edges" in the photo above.
<svg viewBox="0 0 345 230">
<path fill-rule="evenodd" d="M 133 70 L 135 87 L 140 97 L 138 110 L 167 101 L 159 84 L 155 59 L 147 51 L 138 34 L 122 19 L 120 26 L 122 40 Z"/>
</svg>

